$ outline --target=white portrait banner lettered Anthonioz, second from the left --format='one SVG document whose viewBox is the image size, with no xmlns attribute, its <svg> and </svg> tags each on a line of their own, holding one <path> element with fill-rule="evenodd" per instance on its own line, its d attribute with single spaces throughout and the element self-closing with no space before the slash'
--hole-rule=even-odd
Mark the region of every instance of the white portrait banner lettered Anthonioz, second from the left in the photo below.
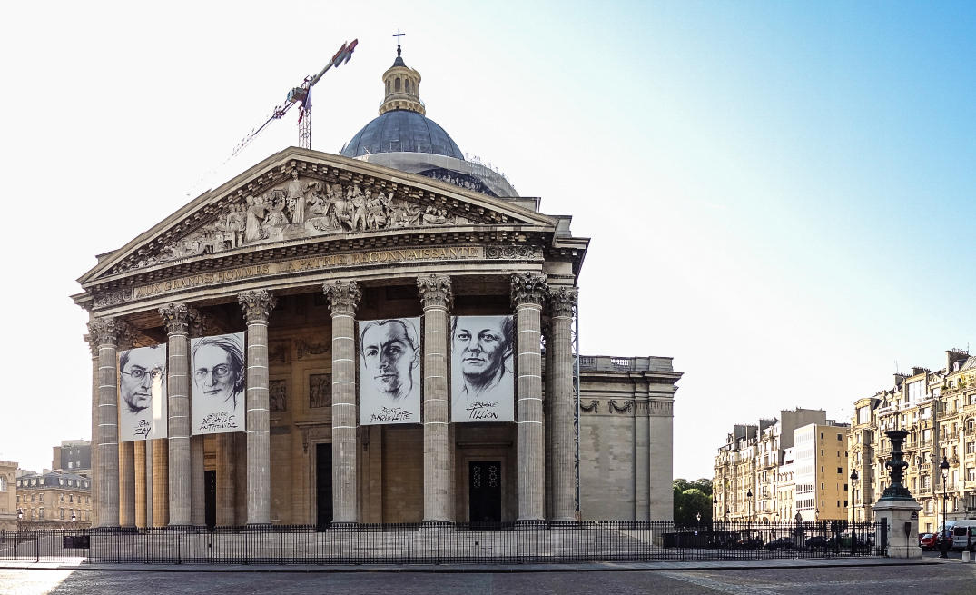
<svg viewBox="0 0 976 595">
<path fill-rule="evenodd" d="M 193 435 L 243 432 L 247 386 L 244 333 L 190 340 Z"/>
</svg>

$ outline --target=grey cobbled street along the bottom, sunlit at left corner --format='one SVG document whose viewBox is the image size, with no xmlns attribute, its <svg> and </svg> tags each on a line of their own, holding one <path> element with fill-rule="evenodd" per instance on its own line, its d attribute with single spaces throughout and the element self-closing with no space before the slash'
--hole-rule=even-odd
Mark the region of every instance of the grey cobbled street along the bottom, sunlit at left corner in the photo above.
<svg viewBox="0 0 976 595">
<path fill-rule="evenodd" d="M 150 567 L 151 568 L 151 567 Z M 274 593 L 730 593 L 735 595 L 881 595 L 890 593 L 976 593 L 976 564 L 957 562 L 880 567 L 773 568 L 681 571 L 678 569 L 585 573 L 416 573 L 416 572 L 123 572 L 97 570 L 0 570 L 0 593 L 40 595 L 212 595 Z M 267 569 L 271 571 L 269 567 Z M 324 569 L 327 570 L 327 569 Z M 429 570 L 429 569 L 427 569 Z M 450 570 L 450 569 L 446 569 Z"/>
</svg>

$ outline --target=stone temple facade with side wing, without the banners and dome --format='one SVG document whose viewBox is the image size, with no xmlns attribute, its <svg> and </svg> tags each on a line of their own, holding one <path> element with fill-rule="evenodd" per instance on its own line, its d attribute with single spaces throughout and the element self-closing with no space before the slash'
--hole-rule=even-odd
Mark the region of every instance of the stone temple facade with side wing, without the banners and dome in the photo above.
<svg viewBox="0 0 976 595">
<path fill-rule="evenodd" d="M 74 296 L 91 313 L 98 524 L 467 522 L 479 466 L 501 522 L 671 519 L 680 373 L 584 357 L 577 374 L 589 239 L 537 204 L 293 148 L 102 255 Z M 451 423 L 449 317 L 499 315 L 516 320 L 516 422 Z M 355 322 L 410 317 L 423 419 L 359 425 Z M 187 334 L 241 331 L 247 432 L 187 440 Z M 117 353 L 166 342 L 169 438 L 120 444 Z"/>
</svg>

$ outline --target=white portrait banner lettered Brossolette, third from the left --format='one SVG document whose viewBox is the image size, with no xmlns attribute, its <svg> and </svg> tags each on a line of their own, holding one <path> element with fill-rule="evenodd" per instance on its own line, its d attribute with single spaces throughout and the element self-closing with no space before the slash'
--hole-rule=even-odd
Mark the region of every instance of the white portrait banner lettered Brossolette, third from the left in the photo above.
<svg viewBox="0 0 976 595">
<path fill-rule="evenodd" d="M 420 321 L 359 321 L 359 425 L 421 422 Z"/>
</svg>

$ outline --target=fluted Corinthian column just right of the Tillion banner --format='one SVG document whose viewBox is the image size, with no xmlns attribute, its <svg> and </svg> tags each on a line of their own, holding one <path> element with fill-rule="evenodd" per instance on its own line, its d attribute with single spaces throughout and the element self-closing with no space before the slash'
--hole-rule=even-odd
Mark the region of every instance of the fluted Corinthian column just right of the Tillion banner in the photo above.
<svg viewBox="0 0 976 595">
<path fill-rule="evenodd" d="M 511 304 L 517 337 L 518 519 L 521 524 L 543 521 L 546 491 L 546 449 L 543 427 L 542 309 L 546 276 L 511 276 Z"/>
</svg>

